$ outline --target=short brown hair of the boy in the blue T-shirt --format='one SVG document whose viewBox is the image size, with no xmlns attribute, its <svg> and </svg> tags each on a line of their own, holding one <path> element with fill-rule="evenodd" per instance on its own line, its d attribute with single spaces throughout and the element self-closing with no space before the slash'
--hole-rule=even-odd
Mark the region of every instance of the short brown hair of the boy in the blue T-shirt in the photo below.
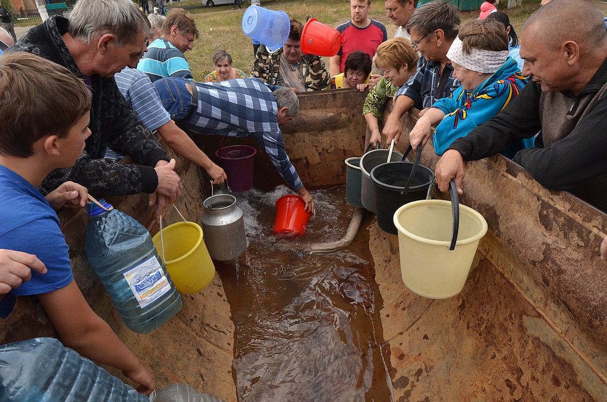
<svg viewBox="0 0 607 402">
<path fill-rule="evenodd" d="M 46 135 L 66 137 L 90 111 L 89 88 L 59 64 L 25 52 L 0 56 L 0 154 L 27 158 Z"/>
</svg>

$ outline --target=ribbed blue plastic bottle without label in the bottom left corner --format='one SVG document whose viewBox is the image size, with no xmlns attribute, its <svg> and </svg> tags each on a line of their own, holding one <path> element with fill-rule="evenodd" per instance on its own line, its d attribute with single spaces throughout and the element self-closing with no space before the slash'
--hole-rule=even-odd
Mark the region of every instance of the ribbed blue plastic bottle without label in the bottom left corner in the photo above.
<svg viewBox="0 0 607 402">
<path fill-rule="evenodd" d="M 149 399 L 57 339 L 35 338 L 0 346 L 0 401 Z"/>
</svg>

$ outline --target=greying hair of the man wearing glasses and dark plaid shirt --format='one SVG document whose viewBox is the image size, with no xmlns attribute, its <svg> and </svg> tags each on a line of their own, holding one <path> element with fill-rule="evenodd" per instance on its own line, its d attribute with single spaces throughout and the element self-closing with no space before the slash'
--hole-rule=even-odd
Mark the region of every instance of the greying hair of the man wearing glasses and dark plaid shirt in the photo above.
<svg viewBox="0 0 607 402">
<path fill-rule="evenodd" d="M 419 35 L 428 35 L 437 29 L 443 30 L 449 40 L 455 39 L 461 20 L 457 7 L 446 0 L 434 0 L 423 4 L 413 12 L 407 24 L 407 32 L 415 28 Z"/>
</svg>

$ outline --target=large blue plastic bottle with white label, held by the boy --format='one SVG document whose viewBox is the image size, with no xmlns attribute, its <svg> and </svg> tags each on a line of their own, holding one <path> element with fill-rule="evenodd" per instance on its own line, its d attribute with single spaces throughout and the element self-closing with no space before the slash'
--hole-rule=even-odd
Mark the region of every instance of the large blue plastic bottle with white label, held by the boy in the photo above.
<svg viewBox="0 0 607 402">
<path fill-rule="evenodd" d="M 146 228 L 131 216 L 88 205 L 86 256 L 124 323 L 148 333 L 177 314 L 183 304 Z"/>
</svg>

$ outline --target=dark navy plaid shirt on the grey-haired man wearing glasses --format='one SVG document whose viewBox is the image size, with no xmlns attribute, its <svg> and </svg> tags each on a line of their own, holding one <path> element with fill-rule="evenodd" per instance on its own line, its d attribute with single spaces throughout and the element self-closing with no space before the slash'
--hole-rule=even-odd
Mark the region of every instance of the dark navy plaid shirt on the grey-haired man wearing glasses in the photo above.
<svg viewBox="0 0 607 402">
<path fill-rule="evenodd" d="M 443 75 L 439 76 L 441 63 L 439 61 L 426 61 L 421 56 L 418 68 L 413 77 L 398 91 L 396 97 L 407 95 L 415 102 L 419 110 L 432 106 L 437 100 L 449 97 L 452 92 L 461 86 L 461 83 L 452 77 L 453 67 L 447 64 Z"/>
</svg>

